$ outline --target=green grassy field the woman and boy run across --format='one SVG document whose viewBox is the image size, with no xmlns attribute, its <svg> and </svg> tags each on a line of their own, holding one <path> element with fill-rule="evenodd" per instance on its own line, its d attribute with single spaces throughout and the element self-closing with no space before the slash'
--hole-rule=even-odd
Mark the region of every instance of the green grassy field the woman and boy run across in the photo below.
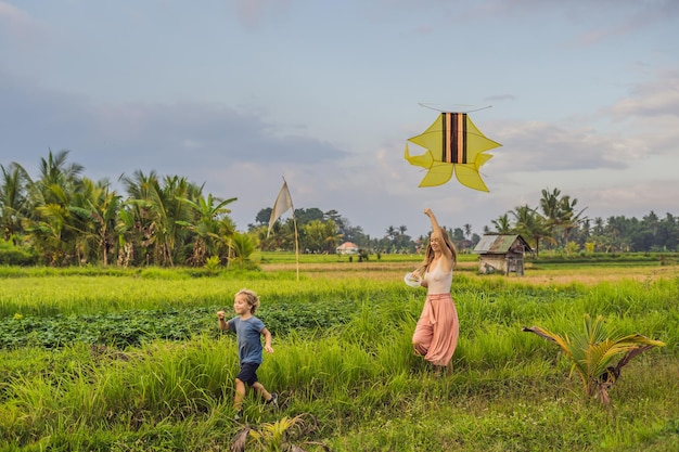
<svg viewBox="0 0 679 452">
<path fill-rule="evenodd" d="M 453 374 L 411 351 L 424 290 L 418 256 L 256 256 L 260 269 L 0 269 L 0 450 L 679 451 L 679 266 L 538 264 L 524 277 L 453 279 Z M 215 311 L 256 290 L 273 332 L 260 380 L 233 419 L 233 336 Z M 584 314 L 657 338 L 623 369 L 612 402 L 588 400 L 558 347 Z M 287 436 L 281 436 L 283 431 Z M 279 435 L 279 436 L 277 436 Z"/>
</svg>

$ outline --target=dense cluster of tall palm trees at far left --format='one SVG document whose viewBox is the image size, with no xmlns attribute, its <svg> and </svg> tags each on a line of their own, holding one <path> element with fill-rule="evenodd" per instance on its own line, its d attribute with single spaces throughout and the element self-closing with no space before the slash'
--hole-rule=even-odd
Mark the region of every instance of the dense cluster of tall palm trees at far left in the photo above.
<svg viewBox="0 0 679 452">
<path fill-rule="evenodd" d="M 120 178 L 121 195 L 108 180 L 81 176 L 67 155 L 50 151 L 35 179 L 16 163 L 0 165 L 1 263 L 197 267 L 252 254 L 251 238 L 228 216 L 236 198 L 139 170 Z"/>
</svg>

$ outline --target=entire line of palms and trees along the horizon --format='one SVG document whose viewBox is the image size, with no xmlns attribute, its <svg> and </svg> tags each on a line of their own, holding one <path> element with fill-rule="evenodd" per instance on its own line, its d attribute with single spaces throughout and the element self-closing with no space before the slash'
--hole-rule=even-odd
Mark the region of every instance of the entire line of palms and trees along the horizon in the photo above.
<svg viewBox="0 0 679 452">
<path fill-rule="evenodd" d="M 120 177 L 125 193 L 107 179 L 92 181 L 84 168 L 67 163 L 68 151 L 41 158 L 31 178 L 18 164 L 0 165 L 0 263 L 48 266 L 245 264 L 256 248 L 294 250 L 295 224 L 302 253 L 335 253 L 353 242 L 362 253 L 420 253 L 428 236 L 415 238 L 405 225 L 389 225 L 382 237 L 364 234 L 336 210 L 295 209 L 269 232 L 271 208 L 261 209 L 247 232 L 239 232 L 229 205 L 236 201 L 204 193 L 179 176 L 140 170 Z M 642 220 L 611 217 L 593 221 L 576 209 L 577 199 L 543 190 L 537 207 L 500 216 L 484 233 L 521 234 L 539 253 L 674 251 L 679 245 L 677 217 Z M 472 225 L 447 229 L 461 253 L 481 240 Z"/>
</svg>

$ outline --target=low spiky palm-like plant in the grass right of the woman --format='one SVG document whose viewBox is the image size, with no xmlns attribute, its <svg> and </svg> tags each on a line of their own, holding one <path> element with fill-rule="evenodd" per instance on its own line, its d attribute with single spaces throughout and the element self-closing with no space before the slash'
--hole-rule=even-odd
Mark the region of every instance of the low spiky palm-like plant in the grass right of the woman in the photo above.
<svg viewBox="0 0 679 452">
<path fill-rule="evenodd" d="M 612 325 L 604 323 L 603 317 L 592 320 L 585 314 L 585 328 L 569 335 L 559 335 L 539 326 L 524 327 L 523 331 L 555 343 L 572 361 L 571 375 L 577 373 L 582 380 L 588 398 L 610 402 L 608 389 L 620 376 L 620 369 L 636 356 L 653 348 L 664 347 L 665 343 L 649 339 L 640 334 L 622 336 Z M 613 365 L 613 361 L 619 361 Z"/>
</svg>

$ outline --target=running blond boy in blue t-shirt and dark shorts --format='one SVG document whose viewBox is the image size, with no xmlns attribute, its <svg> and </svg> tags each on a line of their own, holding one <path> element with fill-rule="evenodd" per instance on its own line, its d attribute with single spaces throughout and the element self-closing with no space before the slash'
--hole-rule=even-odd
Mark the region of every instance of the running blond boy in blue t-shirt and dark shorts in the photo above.
<svg viewBox="0 0 679 452">
<path fill-rule="evenodd" d="M 261 383 L 257 380 L 257 369 L 261 364 L 261 338 L 265 337 L 264 349 L 273 353 L 271 348 L 271 333 L 264 322 L 256 318 L 255 311 L 259 307 L 257 294 L 248 289 L 241 289 L 233 298 L 233 310 L 238 314 L 233 319 L 225 320 L 225 311 L 217 312 L 219 330 L 235 332 L 239 346 L 240 372 L 235 376 L 235 396 L 233 408 L 236 411 L 236 419 L 243 417 L 243 399 L 245 398 L 245 384 L 255 389 L 267 403 L 278 406 L 278 395 L 269 393 Z"/>
</svg>

